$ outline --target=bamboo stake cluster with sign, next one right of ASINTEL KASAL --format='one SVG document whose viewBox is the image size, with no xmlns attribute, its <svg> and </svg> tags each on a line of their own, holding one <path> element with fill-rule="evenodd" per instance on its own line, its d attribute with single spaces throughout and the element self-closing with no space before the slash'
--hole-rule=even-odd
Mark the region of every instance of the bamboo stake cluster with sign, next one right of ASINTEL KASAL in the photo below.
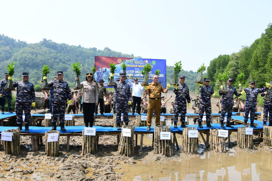
<svg viewBox="0 0 272 181">
<path fill-rule="evenodd" d="M 249 127 L 250 128 L 250 127 Z M 253 135 L 245 134 L 245 127 L 237 128 L 237 146 L 242 149 L 253 148 Z"/>
</svg>

